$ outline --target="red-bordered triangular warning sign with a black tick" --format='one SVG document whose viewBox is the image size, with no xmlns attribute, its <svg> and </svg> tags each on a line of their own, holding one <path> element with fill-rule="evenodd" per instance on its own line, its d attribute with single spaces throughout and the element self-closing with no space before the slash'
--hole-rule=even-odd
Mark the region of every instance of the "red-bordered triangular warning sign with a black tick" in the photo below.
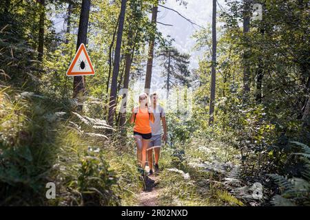
<svg viewBox="0 0 310 220">
<path fill-rule="evenodd" d="M 67 70 L 67 76 L 85 75 L 94 75 L 94 68 L 92 67 L 92 61 L 90 61 L 90 56 L 87 54 L 85 45 L 81 43 Z"/>
</svg>

